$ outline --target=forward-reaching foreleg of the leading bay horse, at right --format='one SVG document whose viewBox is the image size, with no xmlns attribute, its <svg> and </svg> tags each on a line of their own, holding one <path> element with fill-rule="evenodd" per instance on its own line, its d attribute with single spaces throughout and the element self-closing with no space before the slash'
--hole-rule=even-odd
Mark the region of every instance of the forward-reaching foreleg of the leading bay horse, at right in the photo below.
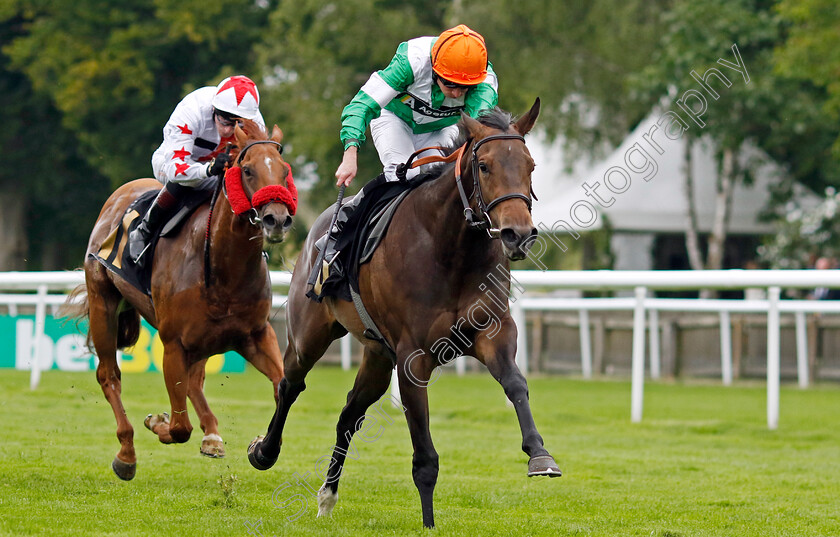
<svg viewBox="0 0 840 537">
<path fill-rule="evenodd" d="M 560 477 L 560 468 L 554 457 L 543 447 L 542 436 L 534 423 L 528 398 L 528 382 L 516 366 L 516 326 L 513 321 L 508 318 L 504 329 L 492 339 L 479 335 L 475 350 L 476 358 L 487 366 L 493 378 L 502 385 L 505 395 L 516 409 L 522 432 L 522 451 L 529 457 L 528 477 Z"/>
</svg>

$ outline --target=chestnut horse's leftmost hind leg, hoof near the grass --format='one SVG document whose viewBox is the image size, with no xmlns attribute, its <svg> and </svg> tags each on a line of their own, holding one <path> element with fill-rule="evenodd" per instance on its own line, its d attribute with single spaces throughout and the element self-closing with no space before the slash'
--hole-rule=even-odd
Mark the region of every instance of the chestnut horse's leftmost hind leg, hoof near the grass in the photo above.
<svg viewBox="0 0 840 537">
<path fill-rule="evenodd" d="M 137 471 L 137 456 L 134 451 L 134 427 L 128 421 L 121 398 L 122 375 L 117 364 L 117 348 L 120 339 L 118 334 L 121 331 L 119 323 L 139 324 L 139 318 L 136 312 L 133 319 L 127 315 L 129 312 L 117 313 L 122 298 L 106 276 L 99 274 L 97 277 L 89 273 L 87 288 L 90 308 L 89 335 L 99 357 L 96 379 L 114 412 L 117 420 L 117 438 L 120 441 L 120 450 L 114 457 L 111 468 L 117 477 L 129 481 Z"/>
</svg>

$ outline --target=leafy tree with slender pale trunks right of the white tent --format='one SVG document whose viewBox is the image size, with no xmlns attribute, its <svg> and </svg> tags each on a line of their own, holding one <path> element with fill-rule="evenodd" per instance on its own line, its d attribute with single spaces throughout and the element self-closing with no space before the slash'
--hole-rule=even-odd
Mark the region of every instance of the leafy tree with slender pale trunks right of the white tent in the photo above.
<svg viewBox="0 0 840 537">
<path fill-rule="evenodd" d="M 803 96 L 798 85 L 772 74 L 773 47 L 781 39 L 781 28 L 766 2 L 680 0 L 664 21 L 667 31 L 636 87 L 651 104 L 668 96 L 666 110 L 689 118 L 681 126 L 689 195 L 686 249 L 693 269 L 719 269 L 734 185 L 751 181 L 760 164 L 749 158 L 747 148 L 776 144 L 778 149 L 780 140 L 789 140 L 792 131 L 785 118 L 801 107 Z M 768 125 L 777 132 L 769 135 Z M 690 197 L 697 179 L 691 173 L 691 150 L 701 137 L 712 141 L 718 160 L 715 216 L 705 260 Z"/>
</svg>

